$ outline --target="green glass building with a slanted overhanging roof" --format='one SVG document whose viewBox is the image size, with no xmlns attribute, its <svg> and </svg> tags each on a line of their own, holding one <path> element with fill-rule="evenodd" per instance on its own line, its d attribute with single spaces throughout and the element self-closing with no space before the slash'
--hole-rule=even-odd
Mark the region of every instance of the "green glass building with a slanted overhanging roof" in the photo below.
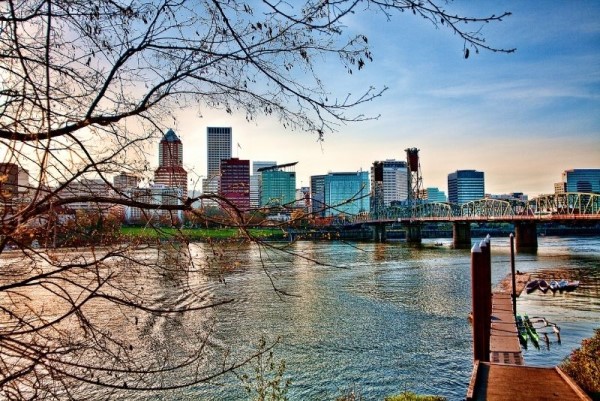
<svg viewBox="0 0 600 401">
<path fill-rule="evenodd" d="M 260 206 L 293 207 L 296 201 L 296 171 L 298 162 L 258 169 L 261 174 Z"/>
</svg>

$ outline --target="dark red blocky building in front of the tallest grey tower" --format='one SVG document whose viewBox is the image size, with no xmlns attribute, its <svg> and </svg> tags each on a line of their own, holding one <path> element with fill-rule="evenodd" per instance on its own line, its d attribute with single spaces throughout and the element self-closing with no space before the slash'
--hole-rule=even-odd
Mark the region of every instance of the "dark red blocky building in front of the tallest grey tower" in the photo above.
<svg viewBox="0 0 600 401">
<path fill-rule="evenodd" d="M 250 160 L 221 160 L 219 194 L 238 209 L 250 209 Z"/>
</svg>

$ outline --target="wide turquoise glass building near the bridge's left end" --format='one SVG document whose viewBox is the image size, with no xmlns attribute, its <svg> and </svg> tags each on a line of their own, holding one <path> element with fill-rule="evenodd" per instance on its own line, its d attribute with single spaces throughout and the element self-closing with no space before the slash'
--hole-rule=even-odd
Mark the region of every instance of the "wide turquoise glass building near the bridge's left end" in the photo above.
<svg viewBox="0 0 600 401">
<path fill-rule="evenodd" d="M 369 173 L 329 173 L 324 180 L 325 216 L 356 215 L 370 211 Z"/>
</svg>

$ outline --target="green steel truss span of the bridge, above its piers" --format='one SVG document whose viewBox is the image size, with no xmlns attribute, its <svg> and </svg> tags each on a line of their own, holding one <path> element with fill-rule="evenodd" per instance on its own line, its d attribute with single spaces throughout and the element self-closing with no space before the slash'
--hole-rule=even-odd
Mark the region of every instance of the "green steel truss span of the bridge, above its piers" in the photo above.
<svg viewBox="0 0 600 401">
<path fill-rule="evenodd" d="M 600 221 L 600 194 L 567 192 L 540 195 L 529 201 L 480 199 L 462 205 L 421 203 L 412 207 L 389 207 L 347 217 L 349 224 L 412 222 L 514 222 Z"/>
</svg>

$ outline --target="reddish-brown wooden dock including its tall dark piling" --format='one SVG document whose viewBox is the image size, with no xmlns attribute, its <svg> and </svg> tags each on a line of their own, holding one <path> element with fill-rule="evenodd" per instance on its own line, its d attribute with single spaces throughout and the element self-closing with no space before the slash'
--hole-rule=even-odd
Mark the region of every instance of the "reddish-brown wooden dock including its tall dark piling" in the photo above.
<svg viewBox="0 0 600 401">
<path fill-rule="evenodd" d="M 487 249 L 486 249 L 487 247 Z M 474 363 L 467 389 L 467 401 L 496 400 L 589 400 L 583 390 L 560 368 L 526 366 L 515 322 L 512 282 L 515 295 L 523 291 L 529 275 L 512 280 L 509 275 L 491 291 L 489 240 L 471 257 L 473 291 Z M 487 252 L 487 254 L 486 254 Z M 514 270 L 513 270 L 514 271 Z M 486 294 L 481 299 L 481 294 Z M 486 299 L 489 301 L 486 301 Z M 482 302 L 483 301 L 483 302 Z M 491 308 L 490 308 L 491 306 Z M 489 314 L 488 314 L 489 313 Z M 481 322 L 485 329 L 481 329 Z M 482 333 L 487 338 L 477 338 Z M 485 352 L 482 353 L 482 350 Z M 489 351 L 489 353 L 488 353 Z M 481 356 L 478 358 L 477 356 Z"/>
</svg>

